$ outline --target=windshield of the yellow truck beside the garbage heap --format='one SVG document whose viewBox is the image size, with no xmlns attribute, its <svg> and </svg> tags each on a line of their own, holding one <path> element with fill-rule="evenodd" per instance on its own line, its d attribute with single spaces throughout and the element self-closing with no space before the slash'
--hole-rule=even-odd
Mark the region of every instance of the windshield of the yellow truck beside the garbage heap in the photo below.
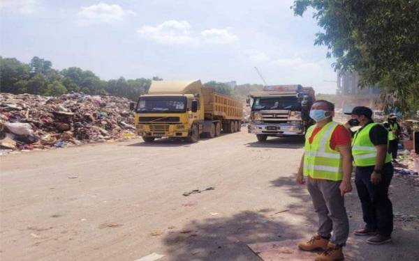
<svg viewBox="0 0 419 261">
<path fill-rule="evenodd" d="M 141 113 L 183 113 L 186 111 L 186 97 L 140 97 L 137 112 Z"/>
</svg>

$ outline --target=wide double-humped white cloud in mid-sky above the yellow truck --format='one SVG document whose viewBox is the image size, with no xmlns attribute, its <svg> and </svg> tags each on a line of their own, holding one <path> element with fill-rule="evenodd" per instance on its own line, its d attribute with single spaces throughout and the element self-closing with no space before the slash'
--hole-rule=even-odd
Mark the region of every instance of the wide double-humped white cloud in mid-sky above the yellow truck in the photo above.
<svg viewBox="0 0 419 261">
<path fill-rule="evenodd" d="M 154 40 L 161 45 L 196 45 L 199 43 L 225 45 L 239 40 L 237 35 L 227 29 L 206 29 L 193 31 L 187 21 L 169 20 L 156 26 L 145 25 L 137 31 L 142 37 Z"/>
</svg>

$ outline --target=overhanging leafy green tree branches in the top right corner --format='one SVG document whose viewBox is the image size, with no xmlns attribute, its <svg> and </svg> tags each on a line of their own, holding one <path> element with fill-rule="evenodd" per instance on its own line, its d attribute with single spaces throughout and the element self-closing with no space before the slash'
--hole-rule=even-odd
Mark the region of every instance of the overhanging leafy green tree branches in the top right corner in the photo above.
<svg viewBox="0 0 419 261">
<path fill-rule="evenodd" d="M 388 104 L 413 111 L 419 99 L 419 1 L 295 0 L 295 15 L 314 8 L 335 69 L 356 71 L 360 86 L 378 84 Z M 416 101 L 416 103 L 415 103 Z M 416 106 L 417 109 L 417 106 Z"/>
</svg>

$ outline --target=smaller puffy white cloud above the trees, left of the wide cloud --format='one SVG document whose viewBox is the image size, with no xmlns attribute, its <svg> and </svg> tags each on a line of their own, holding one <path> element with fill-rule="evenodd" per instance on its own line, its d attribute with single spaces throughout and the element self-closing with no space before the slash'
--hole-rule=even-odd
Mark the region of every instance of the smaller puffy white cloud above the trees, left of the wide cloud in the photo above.
<svg viewBox="0 0 419 261">
<path fill-rule="evenodd" d="M 122 21 L 127 15 L 135 15 L 131 10 L 124 10 L 117 4 L 98 3 L 91 6 L 82 6 L 77 13 L 77 24 L 112 24 Z"/>
</svg>

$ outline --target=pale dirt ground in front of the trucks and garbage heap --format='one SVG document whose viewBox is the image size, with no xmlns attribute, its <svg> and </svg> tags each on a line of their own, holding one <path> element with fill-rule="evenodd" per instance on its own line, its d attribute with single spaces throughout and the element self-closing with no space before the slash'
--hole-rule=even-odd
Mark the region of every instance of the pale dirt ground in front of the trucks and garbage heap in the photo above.
<svg viewBox="0 0 419 261">
<path fill-rule="evenodd" d="M 0 157 L 0 259 L 259 260 L 247 244 L 316 231 L 293 177 L 301 154 L 301 139 L 257 143 L 243 130 L 195 144 L 133 140 Z M 394 242 L 351 235 L 348 259 L 418 260 L 419 188 L 396 175 L 390 190 Z M 346 205 L 354 230 L 355 191 Z"/>
</svg>

